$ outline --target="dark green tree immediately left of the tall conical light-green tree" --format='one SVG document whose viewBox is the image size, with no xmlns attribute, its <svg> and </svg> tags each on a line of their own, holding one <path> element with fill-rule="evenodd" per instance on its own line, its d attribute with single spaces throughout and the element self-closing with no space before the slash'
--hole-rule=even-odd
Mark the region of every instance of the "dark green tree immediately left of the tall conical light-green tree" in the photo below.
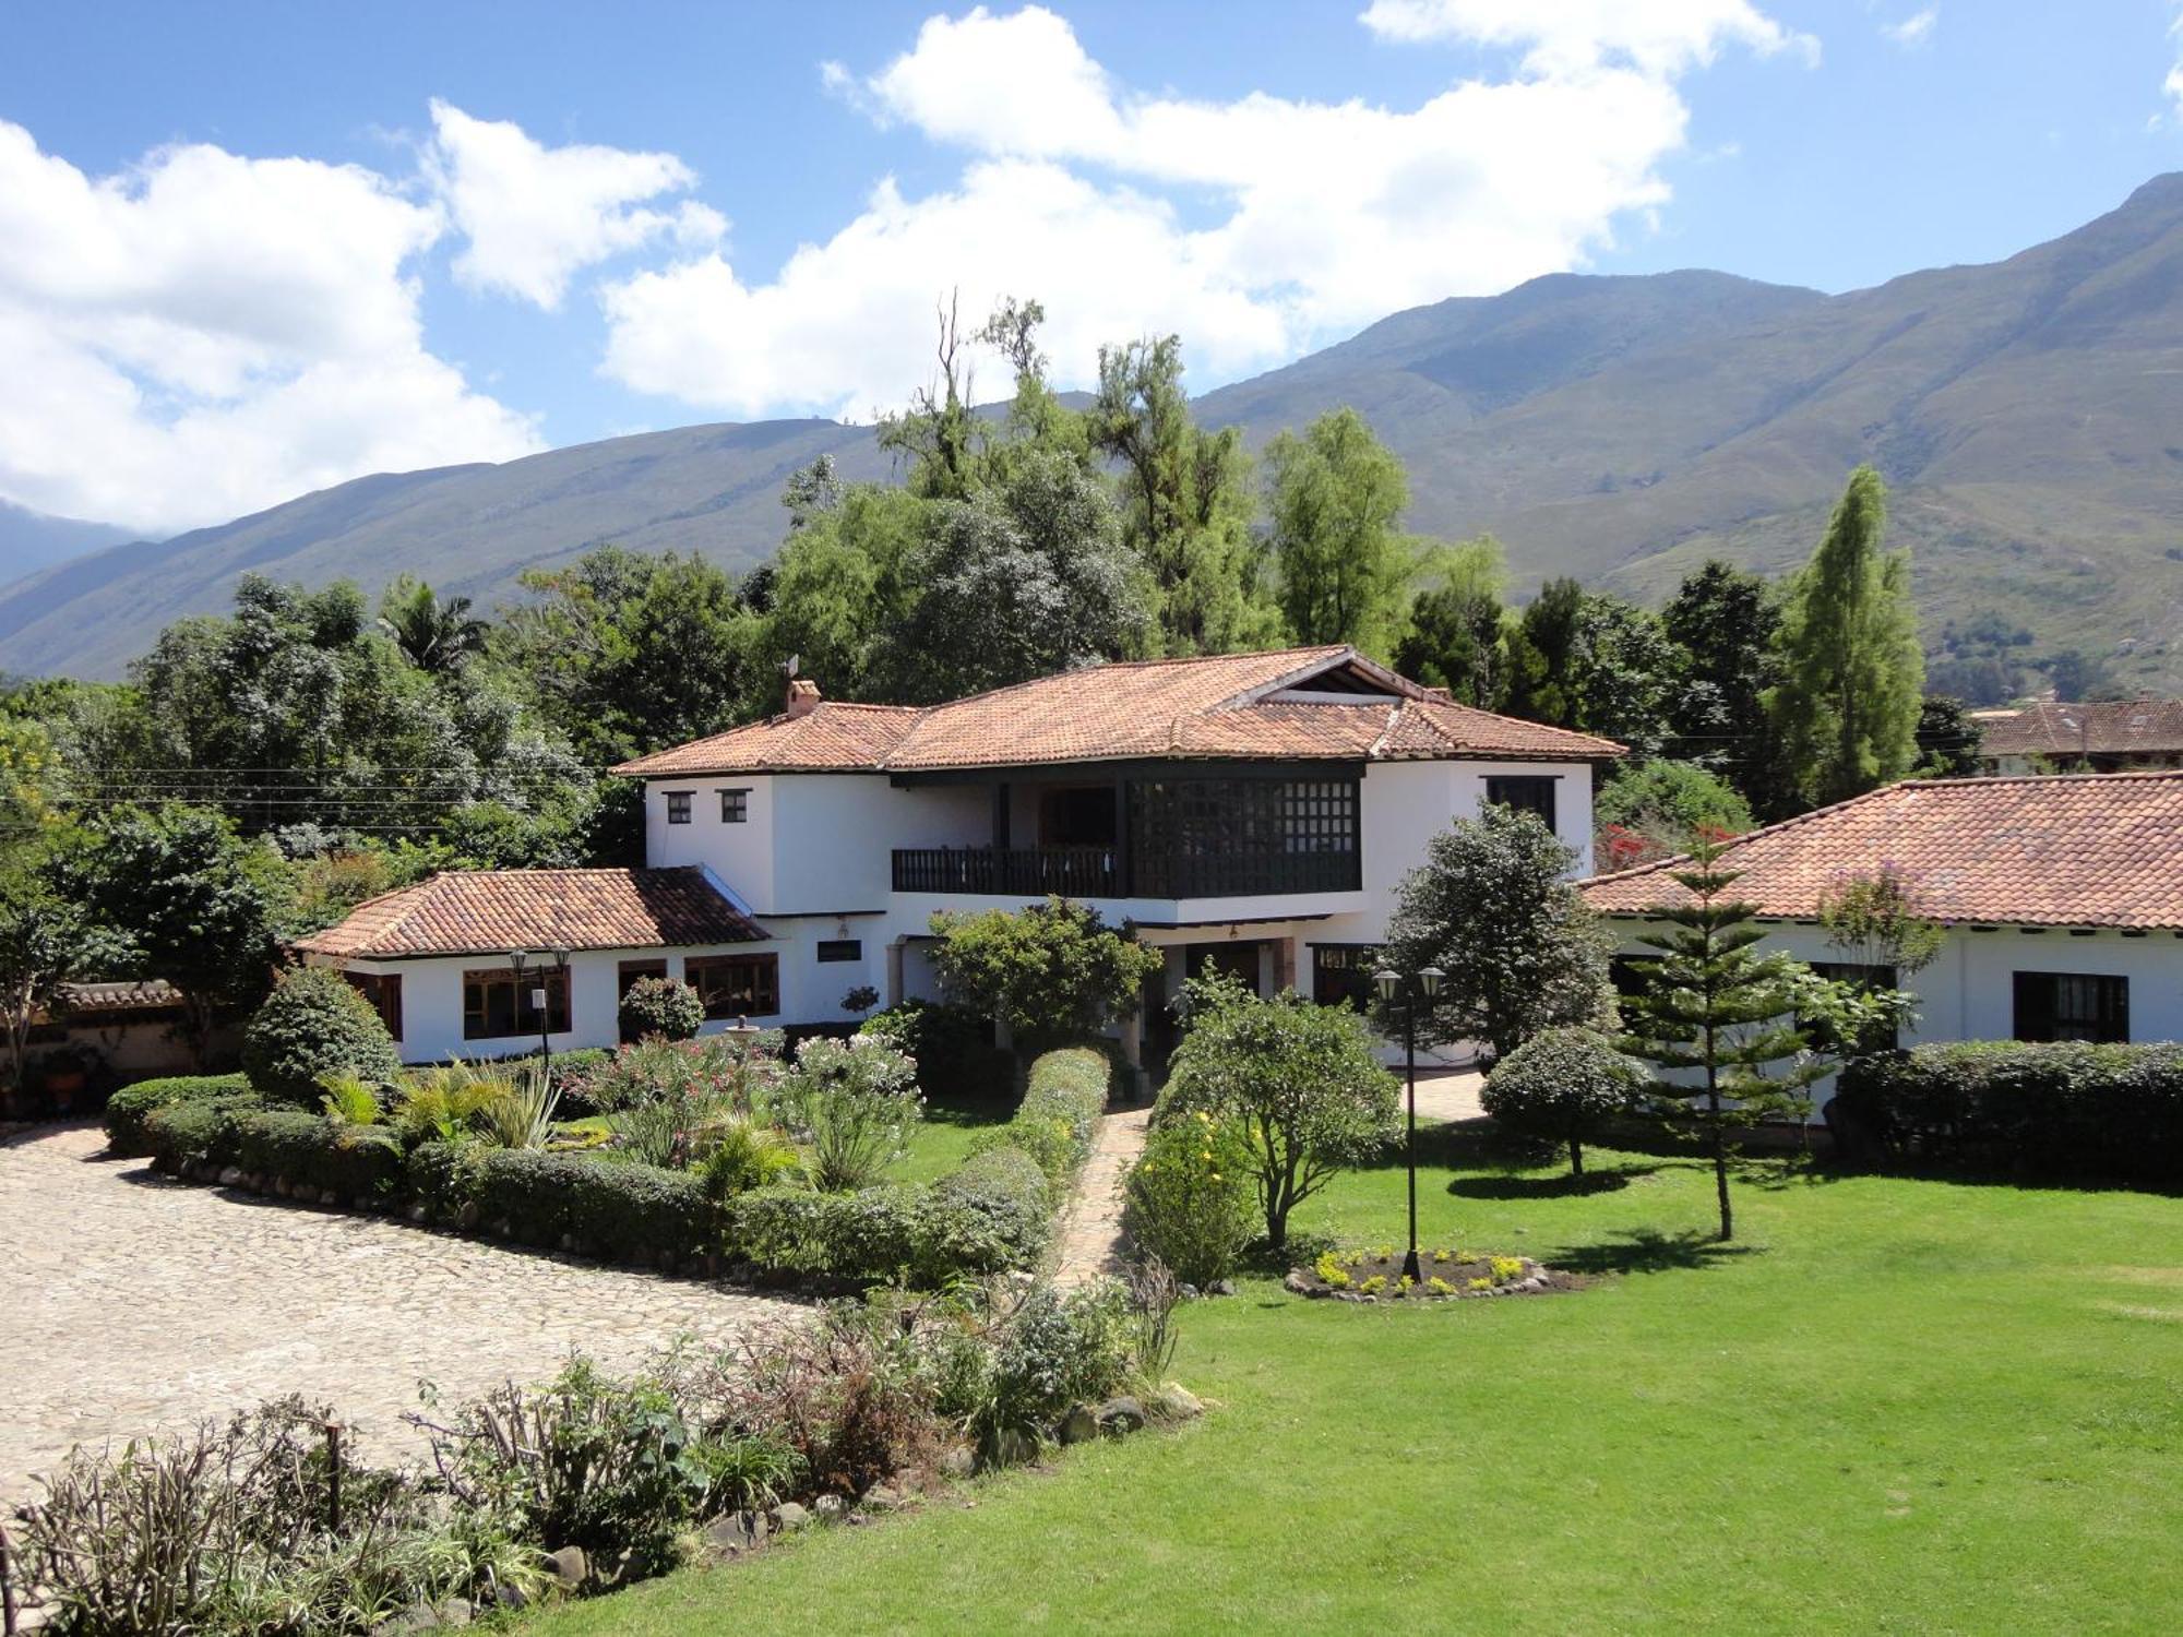
<svg viewBox="0 0 2183 1637">
<path fill-rule="evenodd" d="M 1781 602 L 1757 574 L 1707 559 L 1661 609 L 1677 646 L 1666 753 L 1733 784 L 1755 812 L 1784 816 L 1792 781 L 1766 720 L 1766 694 L 1781 681 Z"/>
</svg>

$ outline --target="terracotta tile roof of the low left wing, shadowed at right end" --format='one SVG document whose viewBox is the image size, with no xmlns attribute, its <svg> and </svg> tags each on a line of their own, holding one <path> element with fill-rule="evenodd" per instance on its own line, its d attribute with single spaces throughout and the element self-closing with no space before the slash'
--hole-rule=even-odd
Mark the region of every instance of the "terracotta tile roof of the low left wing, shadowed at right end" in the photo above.
<svg viewBox="0 0 2183 1637">
<path fill-rule="evenodd" d="M 751 917 L 705 871 L 454 871 L 365 899 L 338 925 L 297 939 L 306 954 L 395 960 L 506 949 L 653 949 L 760 943 Z"/>
</svg>

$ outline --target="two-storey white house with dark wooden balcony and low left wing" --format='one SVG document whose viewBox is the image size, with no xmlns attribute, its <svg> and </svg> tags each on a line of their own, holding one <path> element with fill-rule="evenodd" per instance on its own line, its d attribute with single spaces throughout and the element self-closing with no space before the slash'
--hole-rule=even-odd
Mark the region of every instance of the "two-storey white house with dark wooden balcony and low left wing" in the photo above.
<svg viewBox="0 0 2183 1637">
<path fill-rule="evenodd" d="M 1264 993 L 1362 993 L 1397 884 L 1487 801 L 1541 814 L 1589 871 L 1594 773 L 1618 755 L 1454 705 L 1347 646 L 1089 666 L 932 707 L 834 703 L 797 681 L 779 716 L 616 768 L 644 786 L 648 869 L 448 875 L 408 891 L 491 904 L 489 936 L 482 908 L 476 934 L 469 915 L 413 910 L 395 947 L 369 923 L 397 893 L 299 949 L 380 995 L 393 980 L 402 1052 L 426 1061 L 537 1043 L 535 1015 L 493 1011 L 496 945 L 570 949 L 568 1008 L 548 1019 L 561 1050 L 613 1039 L 637 963 L 692 978 L 723 1026 L 849 1021 L 856 989 L 932 997 L 934 910 L 1061 893 L 1166 949 L 1124 1028 L 1157 1052 L 1168 995 L 1207 965 Z M 668 877 L 707 908 L 554 910 Z"/>
</svg>

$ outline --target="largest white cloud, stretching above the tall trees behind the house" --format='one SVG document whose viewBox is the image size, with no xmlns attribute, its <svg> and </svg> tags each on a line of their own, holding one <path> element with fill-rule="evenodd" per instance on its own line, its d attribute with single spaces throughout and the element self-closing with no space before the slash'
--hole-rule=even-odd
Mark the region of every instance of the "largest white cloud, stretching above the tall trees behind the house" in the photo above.
<svg viewBox="0 0 2183 1637">
<path fill-rule="evenodd" d="M 1380 11 L 1384 33 L 1456 15 L 1524 46 L 1524 72 L 1412 109 L 1137 96 L 1039 7 L 932 17 L 867 79 L 825 65 L 875 120 L 969 151 L 963 177 L 917 199 L 882 181 L 771 282 L 714 251 L 607 284 L 605 373 L 736 415 L 864 413 L 926 378 L 934 297 L 961 290 L 967 319 L 1000 295 L 1043 301 L 1065 384 L 1098 343 L 1166 330 L 1201 380 L 1233 378 L 1397 308 L 1580 266 L 1668 199 L 1657 166 L 1687 124 L 1672 76 L 1794 44 L 1744 0 L 1589 0 L 1552 24 L 1513 0 Z"/>
</svg>

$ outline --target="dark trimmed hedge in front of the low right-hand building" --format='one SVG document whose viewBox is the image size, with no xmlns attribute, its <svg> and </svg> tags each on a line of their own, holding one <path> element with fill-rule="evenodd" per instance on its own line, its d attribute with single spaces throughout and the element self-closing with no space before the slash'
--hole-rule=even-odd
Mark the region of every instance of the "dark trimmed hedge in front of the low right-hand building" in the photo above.
<svg viewBox="0 0 2183 1637">
<path fill-rule="evenodd" d="M 2017 1181 L 2183 1181 L 2183 1045 L 1963 1041 L 1842 1067 L 1827 1126 L 1853 1163 Z"/>
</svg>

